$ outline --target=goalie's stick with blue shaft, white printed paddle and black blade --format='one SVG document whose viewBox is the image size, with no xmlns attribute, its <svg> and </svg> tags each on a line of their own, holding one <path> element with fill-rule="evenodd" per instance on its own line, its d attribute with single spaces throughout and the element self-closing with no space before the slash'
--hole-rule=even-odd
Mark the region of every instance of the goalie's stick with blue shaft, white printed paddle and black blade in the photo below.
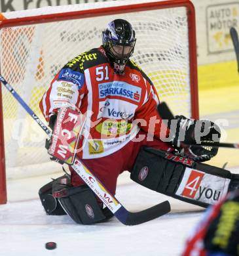
<svg viewBox="0 0 239 256">
<path fill-rule="evenodd" d="M 24 102 L 18 93 L 7 83 L 2 75 L 0 75 L 0 81 L 5 85 L 5 87 L 10 91 L 12 96 L 18 100 L 22 107 L 28 112 L 28 114 L 33 117 L 33 119 L 38 123 L 38 125 L 45 131 L 45 133 L 50 137 L 52 132 L 46 127 L 46 125 L 37 117 L 37 115 L 29 108 L 28 104 Z M 170 212 L 170 203 L 164 201 L 153 207 L 139 211 L 138 213 L 131 213 L 127 211 L 122 204 L 113 196 L 107 188 L 100 182 L 96 176 L 90 171 L 79 158 L 75 158 L 73 165 L 74 171 L 83 179 L 83 181 L 92 189 L 92 191 L 100 198 L 100 200 L 109 208 L 109 210 L 119 219 L 119 221 L 125 225 L 136 225 L 151 221 L 160 217 L 166 213 Z"/>
</svg>

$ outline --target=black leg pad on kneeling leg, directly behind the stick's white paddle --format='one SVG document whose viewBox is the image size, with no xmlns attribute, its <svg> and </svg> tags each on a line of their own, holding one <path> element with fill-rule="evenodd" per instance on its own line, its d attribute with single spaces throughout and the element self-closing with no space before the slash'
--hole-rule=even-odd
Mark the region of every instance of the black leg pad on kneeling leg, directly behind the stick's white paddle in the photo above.
<svg viewBox="0 0 239 256">
<path fill-rule="evenodd" d="M 100 223 L 113 216 L 109 209 L 101 209 L 94 192 L 86 185 L 53 190 L 67 215 L 78 224 Z"/>
</svg>

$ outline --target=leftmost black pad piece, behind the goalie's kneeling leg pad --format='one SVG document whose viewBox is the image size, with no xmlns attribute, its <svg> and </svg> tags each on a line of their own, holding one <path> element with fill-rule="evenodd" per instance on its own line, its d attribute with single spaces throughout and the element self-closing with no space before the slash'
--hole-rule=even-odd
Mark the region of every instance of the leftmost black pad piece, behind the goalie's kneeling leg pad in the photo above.
<svg viewBox="0 0 239 256">
<path fill-rule="evenodd" d="M 65 215 L 65 211 L 62 205 L 58 202 L 57 198 L 52 196 L 52 186 L 54 182 L 58 182 L 62 179 L 67 179 L 66 175 L 59 177 L 58 179 L 48 182 L 42 188 L 39 189 L 39 197 L 41 203 L 48 215 Z"/>
</svg>

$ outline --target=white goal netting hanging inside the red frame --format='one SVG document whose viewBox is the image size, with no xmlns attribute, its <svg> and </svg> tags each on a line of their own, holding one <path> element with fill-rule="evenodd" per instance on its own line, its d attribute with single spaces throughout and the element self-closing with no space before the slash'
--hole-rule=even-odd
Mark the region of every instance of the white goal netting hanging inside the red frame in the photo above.
<svg viewBox="0 0 239 256">
<path fill-rule="evenodd" d="M 109 6 L 109 2 L 102 4 Z M 117 3 L 112 2 L 112 5 Z M 62 9 L 57 8 L 58 11 Z M 50 7 L 47 9 L 51 10 Z M 191 116 L 185 7 L 2 29 L 1 74 L 43 119 L 39 112 L 39 100 L 56 72 L 77 54 L 100 46 L 101 32 L 115 18 L 128 20 L 136 30 L 133 59 L 155 83 L 160 99 L 170 104 L 174 114 Z M 3 113 L 7 167 L 49 161 L 45 133 L 6 89 L 3 89 Z"/>
</svg>

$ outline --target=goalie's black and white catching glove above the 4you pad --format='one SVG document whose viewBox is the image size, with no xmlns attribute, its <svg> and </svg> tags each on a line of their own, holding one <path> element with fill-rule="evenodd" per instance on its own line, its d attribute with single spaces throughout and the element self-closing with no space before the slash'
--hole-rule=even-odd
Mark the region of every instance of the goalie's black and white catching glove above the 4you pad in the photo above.
<svg viewBox="0 0 239 256">
<path fill-rule="evenodd" d="M 175 118 L 176 132 L 172 144 L 181 156 L 194 161 L 208 161 L 217 154 L 218 147 L 200 146 L 202 141 L 219 142 L 221 132 L 215 123 L 189 119 L 185 116 L 175 116 Z"/>
</svg>

